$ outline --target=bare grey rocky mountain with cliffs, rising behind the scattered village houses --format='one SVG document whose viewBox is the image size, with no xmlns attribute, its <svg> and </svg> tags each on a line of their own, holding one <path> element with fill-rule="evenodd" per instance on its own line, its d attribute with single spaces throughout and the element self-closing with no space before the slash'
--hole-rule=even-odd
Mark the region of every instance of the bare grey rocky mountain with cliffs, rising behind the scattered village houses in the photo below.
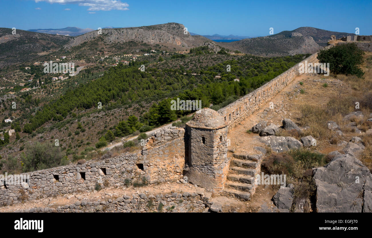
<svg viewBox="0 0 372 238">
<path fill-rule="evenodd" d="M 210 41 L 203 36 L 191 36 L 189 32 L 184 32 L 184 28 L 184 25 L 172 22 L 152 26 L 102 29 L 102 34 L 96 30 L 76 36 L 65 45 L 65 48 L 70 49 L 98 38 L 101 38 L 101 41 L 106 44 L 137 41 L 153 45 L 161 44 L 177 50 L 186 50 L 199 46 L 204 41 Z"/>
</svg>

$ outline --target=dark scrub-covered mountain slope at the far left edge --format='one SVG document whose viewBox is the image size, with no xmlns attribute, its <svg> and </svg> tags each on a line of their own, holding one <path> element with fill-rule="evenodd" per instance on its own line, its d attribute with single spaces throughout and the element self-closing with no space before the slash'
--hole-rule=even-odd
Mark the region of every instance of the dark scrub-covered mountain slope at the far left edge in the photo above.
<svg viewBox="0 0 372 238">
<path fill-rule="evenodd" d="M 0 68 L 37 58 L 38 53 L 61 48 L 72 39 L 70 36 L 0 28 Z"/>
</svg>

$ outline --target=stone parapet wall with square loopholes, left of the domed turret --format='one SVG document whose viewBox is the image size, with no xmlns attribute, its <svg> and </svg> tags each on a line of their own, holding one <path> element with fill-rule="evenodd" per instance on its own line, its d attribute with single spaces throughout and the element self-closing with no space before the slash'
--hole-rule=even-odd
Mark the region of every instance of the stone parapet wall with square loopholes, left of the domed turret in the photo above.
<svg viewBox="0 0 372 238">
<path fill-rule="evenodd" d="M 101 186 L 124 186 L 131 183 L 157 183 L 179 180 L 185 164 L 185 130 L 172 127 L 158 131 L 142 151 L 121 154 L 115 158 L 90 160 L 82 165 L 66 165 L 30 173 L 23 184 L 3 184 L 0 181 L 0 205 L 19 203 L 27 197 L 42 197 L 78 191 L 94 190 Z M 12 175 L 8 176 L 8 181 Z"/>
</svg>

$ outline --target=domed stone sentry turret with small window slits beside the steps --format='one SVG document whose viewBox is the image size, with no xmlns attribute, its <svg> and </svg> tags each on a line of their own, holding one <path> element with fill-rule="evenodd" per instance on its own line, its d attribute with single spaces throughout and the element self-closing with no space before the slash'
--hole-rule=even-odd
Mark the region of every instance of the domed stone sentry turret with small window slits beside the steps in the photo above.
<svg viewBox="0 0 372 238">
<path fill-rule="evenodd" d="M 186 123 L 190 183 L 221 192 L 228 173 L 227 124 L 218 112 L 204 108 Z"/>
</svg>

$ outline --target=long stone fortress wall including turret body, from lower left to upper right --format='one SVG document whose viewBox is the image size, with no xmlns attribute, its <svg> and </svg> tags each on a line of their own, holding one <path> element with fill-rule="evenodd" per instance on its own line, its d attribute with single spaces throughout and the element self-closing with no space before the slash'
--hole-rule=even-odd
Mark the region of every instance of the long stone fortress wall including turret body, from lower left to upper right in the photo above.
<svg viewBox="0 0 372 238">
<path fill-rule="evenodd" d="M 317 54 L 313 54 L 302 62 L 317 62 L 316 57 Z M 219 128 L 213 128 L 214 126 L 209 125 L 211 123 L 205 120 L 202 123 L 196 121 L 195 125 L 189 124 L 186 129 L 190 132 L 187 133 L 183 128 L 161 129 L 152 134 L 142 150 L 135 154 L 126 153 L 115 158 L 90 160 L 82 165 L 67 165 L 24 173 L 23 176 L 29 175 L 29 181 L 18 185 L 6 185 L 0 181 L 0 205 L 19 203 L 22 194 L 26 194 L 28 200 L 35 200 L 66 193 L 91 191 L 95 189 L 97 183 L 124 186 L 127 181 L 132 183 L 147 181 L 149 184 L 179 180 L 186 182 L 183 173 L 186 172 L 187 175 L 188 171 L 191 171 L 189 172 L 191 179 L 198 181 L 204 176 L 199 173 L 203 171 L 199 166 L 203 163 L 211 170 L 207 171 L 205 176 L 215 180 L 209 183 L 210 188 L 205 188 L 212 188 L 215 192 L 221 191 L 230 164 L 230 159 L 227 158 L 227 128 L 234 127 L 279 93 L 299 75 L 298 68 L 299 65 L 296 64 L 259 89 L 220 109 L 218 113 L 213 111 L 214 118 L 221 118 Z M 210 113 L 208 110 L 204 112 Z M 206 114 L 206 117 L 208 115 Z M 193 120 L 195 118 L 197 117 L 194 116 Z M 193 151 L 192 148 L 198 149 Z M 193 168 L 199 168 L 197 170 L 199 174 L 192 173 Z M 183 178 L 185 180 L 182 180 Z M 108 206 L 115 207 L 116 210 L 116 205 Z M 67 211 L 66 209 L 62 210 Z"/>
</svg>

